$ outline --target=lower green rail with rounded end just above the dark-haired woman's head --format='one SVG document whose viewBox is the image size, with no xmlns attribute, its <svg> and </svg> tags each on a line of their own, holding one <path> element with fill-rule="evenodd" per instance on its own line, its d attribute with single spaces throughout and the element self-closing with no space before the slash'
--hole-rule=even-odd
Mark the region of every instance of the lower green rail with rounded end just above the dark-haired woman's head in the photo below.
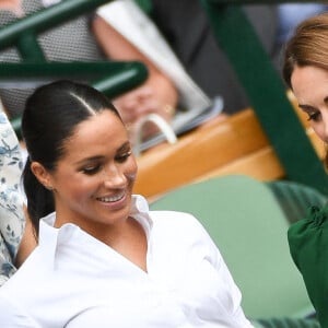
<svg viewBox="0 0 328 328">
<path fill-rule="evenodd" d="M 33 83 L 34 85 L 56 79 L 73 79 L 91 83 L 108 97 L 115 97 L 138 86 L 148 72 L 140 62 L 33 62 L 1 63 L 1 84 Z M 103 79 L 98 79 L 105 77 Z M 21 117 L 11 119 L 11 125 L 21 139 Z"/>
</svg>

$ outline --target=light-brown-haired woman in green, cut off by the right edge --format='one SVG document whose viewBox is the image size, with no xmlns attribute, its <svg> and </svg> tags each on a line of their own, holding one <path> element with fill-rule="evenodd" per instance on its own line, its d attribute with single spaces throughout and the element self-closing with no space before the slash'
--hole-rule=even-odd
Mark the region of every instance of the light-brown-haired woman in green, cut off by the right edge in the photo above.
<svg viewBox="0 0 328 328">
<path fill-rule="evenodd" d="M 328 144 L 328 13 L 303 21 L 285 46 L 283 78 L 316 134 Z M 328 155 L 326 155 L 328 166 Z M 321 327 L 328 327 L 328 206 L 289 230 L 291 255 Z"/>
</svg>

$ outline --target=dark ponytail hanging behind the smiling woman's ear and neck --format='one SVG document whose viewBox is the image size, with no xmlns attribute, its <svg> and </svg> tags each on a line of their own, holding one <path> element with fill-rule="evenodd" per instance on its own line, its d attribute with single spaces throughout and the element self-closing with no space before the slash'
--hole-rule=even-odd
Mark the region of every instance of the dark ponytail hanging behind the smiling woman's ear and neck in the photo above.
<svg viewBox="0 0 328 328">
<path fill-rule="evenodd" d="M 55 211 L 55 201 L 52 191 L 45 188 L 31 171 L 30 156 L 23 171 L 23 186 L 27 198 L 27 213 L 37 236 L 39 220 Z"/>
</svg>

